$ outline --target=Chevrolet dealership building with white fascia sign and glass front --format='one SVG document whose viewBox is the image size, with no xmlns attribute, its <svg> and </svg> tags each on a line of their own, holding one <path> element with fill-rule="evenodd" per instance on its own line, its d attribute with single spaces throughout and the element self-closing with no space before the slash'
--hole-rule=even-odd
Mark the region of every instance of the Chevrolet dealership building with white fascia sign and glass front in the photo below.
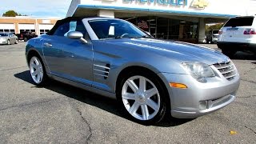
<svg viewBox="0 0 256 144">
<path fill-rule="evenodd" d="M 256 14 L 255 0 L 73 0 L 66 14 L 122 18 L 156 38 L 203 42 L 206 23 Z"/>
</svg>

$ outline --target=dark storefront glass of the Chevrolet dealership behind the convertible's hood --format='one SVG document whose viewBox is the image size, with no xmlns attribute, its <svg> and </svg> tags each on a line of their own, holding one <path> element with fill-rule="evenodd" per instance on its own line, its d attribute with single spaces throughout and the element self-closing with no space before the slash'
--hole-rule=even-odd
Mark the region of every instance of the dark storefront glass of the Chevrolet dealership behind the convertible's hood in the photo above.
<svg viewBox="0 0 256 144">
<path fill-rule="evenodd" d="M 155 16 L 123 19 L 132 22 L 142 30 L 150 32 L 155 38 L 194 43 L 198 41 L 198 22 Z"/>
</svg>

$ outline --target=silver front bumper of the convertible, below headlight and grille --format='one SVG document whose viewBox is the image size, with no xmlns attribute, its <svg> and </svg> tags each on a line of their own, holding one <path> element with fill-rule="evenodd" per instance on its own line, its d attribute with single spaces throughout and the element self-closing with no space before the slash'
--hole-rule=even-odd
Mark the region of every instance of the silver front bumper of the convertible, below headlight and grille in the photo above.
<svg viewBox="0 0 256 144">
<path fill-rule="evenodd" d="M 187 74 L 158 74 L 165 79 L 170 95 L 171 115 L 174 118 L 197 118 L 219 110 L 234 101 L 240 84 L 239 74 L 231 81 L 226 78 L 210 78 L 208 82 L 196 81 Z M 186 84 L 187 89 L 169 86 L 169 82 Z M 207 102 L 206 109 L 200 108 L 200 102 Z"/>
</svg>

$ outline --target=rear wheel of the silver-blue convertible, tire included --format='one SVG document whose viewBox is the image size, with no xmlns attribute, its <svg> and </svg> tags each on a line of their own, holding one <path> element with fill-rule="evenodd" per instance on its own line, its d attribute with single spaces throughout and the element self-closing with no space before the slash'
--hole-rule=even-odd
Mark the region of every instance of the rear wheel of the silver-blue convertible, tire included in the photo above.
<svg viewBox="0 0 256 144">
<path fill-rule="evenodd" d="M 38 55 L 30 58 L 30 76 L 36 86 L 44 86 L 46 84 L 46 69 Z"/>
</svg>

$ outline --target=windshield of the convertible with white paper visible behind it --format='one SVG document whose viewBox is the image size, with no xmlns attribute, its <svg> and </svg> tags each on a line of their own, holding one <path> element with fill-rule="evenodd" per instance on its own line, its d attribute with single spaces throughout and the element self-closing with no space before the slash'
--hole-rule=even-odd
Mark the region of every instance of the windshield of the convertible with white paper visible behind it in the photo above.
<svg viewBox="0 0 256 144">
<path fill-rule="evenodd" d="M 118 19 L 91 20 L 89 24 L 98 39 L 150 37 L 129 22 Z"/>
</svg>

